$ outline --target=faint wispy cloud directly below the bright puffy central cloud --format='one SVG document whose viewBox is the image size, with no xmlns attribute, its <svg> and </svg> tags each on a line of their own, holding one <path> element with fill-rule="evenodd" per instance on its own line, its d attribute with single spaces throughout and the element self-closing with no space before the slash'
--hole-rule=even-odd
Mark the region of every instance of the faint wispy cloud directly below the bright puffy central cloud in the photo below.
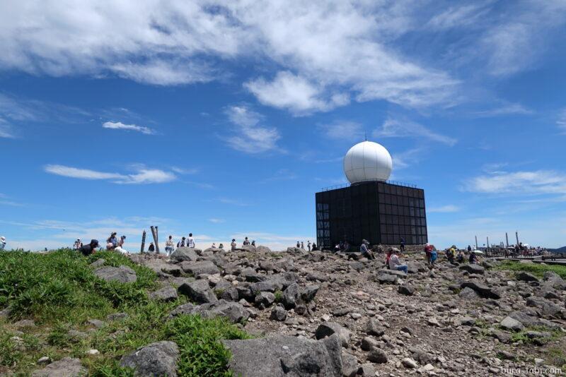
<svg viewBox="0 0 566 377">
<path fill-rule="evenodd" d="M 235 129 L 231 136 L 224 140 L 228 145 L 241 152 L 257 154 L 270 150 L 277 150 L 277 140 L 281 138 L 277 128 L 260 126 L 262 116 L 245 106 L 230 106 L 226 114 L 234 124 Z"/>
</svg>

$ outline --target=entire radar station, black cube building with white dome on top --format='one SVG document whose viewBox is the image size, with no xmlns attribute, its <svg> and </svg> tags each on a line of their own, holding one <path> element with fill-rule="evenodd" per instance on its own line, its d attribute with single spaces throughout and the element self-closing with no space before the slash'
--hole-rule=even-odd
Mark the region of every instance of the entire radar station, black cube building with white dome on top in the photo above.
<svg viewBox="0 0 566 377">
<path fill-rule="evenodd" d="M 383 145 L 362 141 L 344 157 L 349 185 L 331 186 L 316 193 L 316 238 L 333 248 L 340 241 L 359 245 L 427 243 L 424 190 L 388 181 L 393 161 Z"/>
</svg>

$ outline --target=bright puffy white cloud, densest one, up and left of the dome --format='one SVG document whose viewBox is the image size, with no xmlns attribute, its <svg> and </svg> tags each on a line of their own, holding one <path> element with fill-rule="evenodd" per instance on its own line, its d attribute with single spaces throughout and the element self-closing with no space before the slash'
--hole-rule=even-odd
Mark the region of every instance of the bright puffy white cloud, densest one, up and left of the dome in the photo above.
<svg viewBox="0 0 566 377">
<path fill-rule="evenodd" d="M 316 88 L 305 78 L 291 72 L 279 72 L 272 81 L 258 78 L 244 86 L 252 92 L 262 104 L 281 109 L 289 109 L 295 114 L 305 114 L 313 110 L 328 111 L 350 102 L 345 94 L 331 95 L 323 100 L 323 90 Z"/>
</svg>

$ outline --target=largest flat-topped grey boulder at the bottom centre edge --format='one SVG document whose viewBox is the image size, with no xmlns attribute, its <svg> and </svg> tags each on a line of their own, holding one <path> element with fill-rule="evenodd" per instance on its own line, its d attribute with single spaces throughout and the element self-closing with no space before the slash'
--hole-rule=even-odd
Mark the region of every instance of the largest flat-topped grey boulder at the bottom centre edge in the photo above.
<svg viewBox="0 0 566 377">
<path fill-rule="evenodd" d="M 276 335 L 223 340 L 232 353 L 230 369 L 246 377 L 342 377 L 342 351 L 336 335 L 315 341 Z"/>
</svg>

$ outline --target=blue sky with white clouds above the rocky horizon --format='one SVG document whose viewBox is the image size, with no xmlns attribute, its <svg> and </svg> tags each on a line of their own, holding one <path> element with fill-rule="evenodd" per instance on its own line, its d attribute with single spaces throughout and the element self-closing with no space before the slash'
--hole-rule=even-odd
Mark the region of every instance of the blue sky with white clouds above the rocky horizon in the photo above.
<svg viewBox="0 0 566 377">
<path fill-rule="evenodd" d="M 0 4 L 0 234 L 315 238 L 364 139 L 429 239 L 566 244 L 564 1 Z"/>
</svg>

